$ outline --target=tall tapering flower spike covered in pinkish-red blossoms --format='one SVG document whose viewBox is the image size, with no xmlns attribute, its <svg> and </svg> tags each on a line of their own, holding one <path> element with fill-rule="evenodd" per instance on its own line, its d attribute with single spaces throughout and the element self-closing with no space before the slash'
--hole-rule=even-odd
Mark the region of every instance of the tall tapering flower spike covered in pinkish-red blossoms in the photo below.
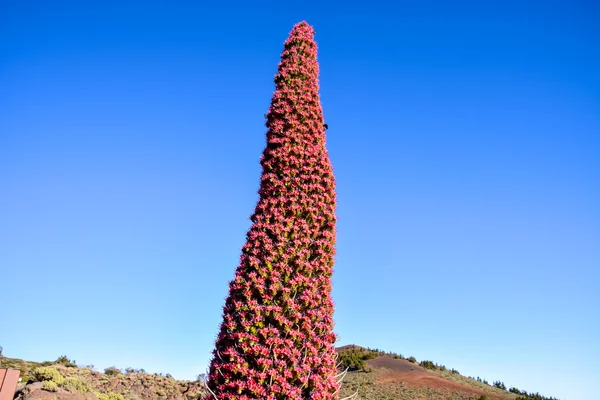
<svg viewBox="0 0 600 400">
<path fill-rule="evenodd" d="M 306 22 L 295 25 L 281 54 L 260 199 L 223 307 L 209 398 L 337 398 L 335 181 L 313 37 Z"/>
</svg>

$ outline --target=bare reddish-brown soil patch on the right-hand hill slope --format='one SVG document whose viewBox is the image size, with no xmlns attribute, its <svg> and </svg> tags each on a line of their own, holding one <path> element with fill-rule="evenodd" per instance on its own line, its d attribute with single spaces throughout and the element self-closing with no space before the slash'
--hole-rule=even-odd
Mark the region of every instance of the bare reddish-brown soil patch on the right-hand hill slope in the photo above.
<svg viewBox="0 0 600 400">
<path fill-rule="evenodd" d="M 448 393 L 463 392 L 475 396 L 484 394 L 489 399 L 505 399 L 505 397 L 494 396 L 483 390 L 433 375 L 417 364 L 413 364 L 407 360 L 395 359 L 388 355 L 368 360 L 367 365 L 371 368 L 382 369 L 375 383 L 404 383 L 406 387 L 427 387 Z"/>
</svg>

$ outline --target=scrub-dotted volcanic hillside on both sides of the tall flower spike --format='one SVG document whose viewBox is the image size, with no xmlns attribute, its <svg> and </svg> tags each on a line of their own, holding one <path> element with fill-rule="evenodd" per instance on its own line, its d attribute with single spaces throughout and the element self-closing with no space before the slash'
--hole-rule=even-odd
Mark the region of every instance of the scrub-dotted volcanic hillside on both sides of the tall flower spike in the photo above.
<svg viewBox="0 0 600 400">
<path fill-rule="evenodd" d="M 509 391 L 502 382 L 465 377 L 414 357 L 355 345 L 339 347 L 337 353 L 340 373 L 345 372 L 341 398 L 358 391 L 362 400 L 556 400 Z M 99 372 L 93 366 L 77 366 L 66 356 L 41 363 L 0 358 L 0 368 L 21 371 L 16 400 L 197 400 L 207 393 L 202 373 L 197 380 L 180 381 L 143 369 L 110 367 Z"/>
</svg>

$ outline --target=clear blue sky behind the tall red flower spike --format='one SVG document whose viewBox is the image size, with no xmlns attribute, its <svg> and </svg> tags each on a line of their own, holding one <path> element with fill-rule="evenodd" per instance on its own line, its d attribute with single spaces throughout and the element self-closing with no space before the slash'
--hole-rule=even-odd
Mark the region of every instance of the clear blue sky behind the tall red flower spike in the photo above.
<svg viewBox="0 0 600 400">
<path fill-rule="evenodd" d="M 340 344 L 597 394 L 600 7 L 175 3 L 0 2 L 5 355 L 205 371 L 307 20 Z"/>
</svg>

